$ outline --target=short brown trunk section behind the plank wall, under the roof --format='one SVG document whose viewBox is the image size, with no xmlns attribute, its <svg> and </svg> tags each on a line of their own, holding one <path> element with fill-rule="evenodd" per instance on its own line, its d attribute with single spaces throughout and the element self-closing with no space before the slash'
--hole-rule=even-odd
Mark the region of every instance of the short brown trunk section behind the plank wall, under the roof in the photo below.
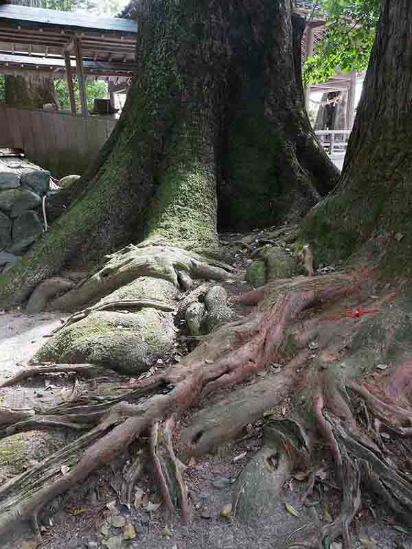
<svg viewBox="0 0 412 549">
<path fill-rule="evenodd" d="M 52 104 L 59 108 L 54 80 L 47 76 L 6 76 L 5 104 L 18 108 L 43 108 Z"/>
</svg>

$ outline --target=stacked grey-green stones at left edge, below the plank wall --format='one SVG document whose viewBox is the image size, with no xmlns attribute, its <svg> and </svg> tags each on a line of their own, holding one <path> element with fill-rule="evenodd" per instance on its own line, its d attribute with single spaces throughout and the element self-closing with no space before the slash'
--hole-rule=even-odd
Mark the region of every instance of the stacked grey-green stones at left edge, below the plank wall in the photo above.
<svg viewBox="0 0 412 549">
<path fill-rule="evenodd" d="M 49 189 L 50 172 L 35 170 L 19 175 L 4 164 L 0 166 L 0 272 L 43 232 L 41 202 Z"/>
</svg>

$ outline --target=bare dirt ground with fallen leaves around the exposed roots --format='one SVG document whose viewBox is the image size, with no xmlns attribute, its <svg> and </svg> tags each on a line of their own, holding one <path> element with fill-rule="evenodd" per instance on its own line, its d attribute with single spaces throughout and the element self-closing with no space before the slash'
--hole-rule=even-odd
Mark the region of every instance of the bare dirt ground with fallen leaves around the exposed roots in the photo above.
<svg viewBox="0 0 412 549">
<path fill-rule="evenodd" d="M 233 235 L 232 240 L 238 239 Z M 225 236 L 225 240 L 229 237 Z M 247 290 L 243 283 L 244 268 L 250 263 L 250 246 L 240 247 L 236 258 L 238 283 L 231 291 Z M 227 287 L 230 290 L 229 287 Z M 0 314 L 0 382 L 19 371 L 41 347 L 43 336 L 60 324 L 59 314 L 25 316 L 21 311 Z M 270 375 L 270 374 L 268 374 Z M 251 379 L 249 383 L 254 383 Z M 126 379 L 127 381 L 127 379 Z M 61 400 L 62 392 L 73 388 L 71 376 L 43 376 L 27 380 L 12 388 L 0 389 L 0 406 L 31 408 L 37 404 L 51 405 Z M 287 403 L 285 403 L 287 404 Z M 183 423 L 190 417 L 183 417 Z M 306 482 L 293 479 L 284 486 L 283 493 L 270 514 L 260 519 L 241 523 L 232 513 L 222 516 L 222 509 L 231 502 L 233 482 L 242 467 L 262 447 L 262 418 L 240 436 L 238 441 L 220 447 L 215 453 L 192 459 L 185 472 L 193 510 L 190 524 L 170 515 L 165 506 L 147 512 L 139 504 L 129 510 L 119 504 L 119 484 L 124 471 L 124 461 L 131 458 L 127 452 L 119 456 L 117 463 L 91 476 L 81 487 L 58 498 L 40 517 L 44 549 L 269 549 L 283 548 L 294 539 L 293 533 L 302 538 L 306 529 L 314 529 L 317 519 L 321 524 L 331 521 L 339 512 L 341 493 L 336 489 L 332 471 L 324 471 L 314 486 L 314 491 L 304 506 L 299 499 L 306 489 Z M 241 456 L 239 458 L 239 456 Z M 157 487 L 146 475 L 137 484 L 148 499 L 159 502 Z M 286 509 L 290 504 L 299 516 Z M 233 516 L 234 515 L 234 516 Z M 125 539 L 128 524 L 134 528 L 135 537 Z M 412 549 L 412 537 L 402 530 L 395 516 L 374 495 L 363 498 L 363 506 L 352 528 L 353 548 L 364 549 Z M 36 543 L 32 531 L 22 525 L 8 539 L 0 540 L 3 549 L 34 549 Z M 293 546 L 294 548 L 298 546 Z M 341 549 L 334 543 L 331 549 Z"/>
</svg>

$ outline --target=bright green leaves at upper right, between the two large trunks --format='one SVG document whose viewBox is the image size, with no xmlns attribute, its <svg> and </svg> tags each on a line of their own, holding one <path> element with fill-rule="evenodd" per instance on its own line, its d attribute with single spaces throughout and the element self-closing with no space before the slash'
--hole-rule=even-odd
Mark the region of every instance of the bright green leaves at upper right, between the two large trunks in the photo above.
<svg viewBox="0 0 412 549">
<path fill-rule="evenodd" d="M 379 0 L 323 0 L 321 8 L 328 13 L 326 30 L 314 55 L 304 67 L 304 84 L 325 82 L 336 71 L 349 73 L 367 68 Z"/>
</svg>

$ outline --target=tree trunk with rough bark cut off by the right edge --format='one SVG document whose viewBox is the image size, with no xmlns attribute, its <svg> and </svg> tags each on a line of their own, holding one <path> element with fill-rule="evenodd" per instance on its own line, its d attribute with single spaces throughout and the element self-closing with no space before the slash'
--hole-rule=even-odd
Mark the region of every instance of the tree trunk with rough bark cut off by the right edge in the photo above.
<svg viewBox="0 0 412 549">
<path fill-rule="evenodd" d="M 410 271 L 411 14 L 407 0 L 382 2 L 341 178 L 304 221 L 318 261 L 345 259 L 369 242 L 390 274 Z"/>
</svg>

